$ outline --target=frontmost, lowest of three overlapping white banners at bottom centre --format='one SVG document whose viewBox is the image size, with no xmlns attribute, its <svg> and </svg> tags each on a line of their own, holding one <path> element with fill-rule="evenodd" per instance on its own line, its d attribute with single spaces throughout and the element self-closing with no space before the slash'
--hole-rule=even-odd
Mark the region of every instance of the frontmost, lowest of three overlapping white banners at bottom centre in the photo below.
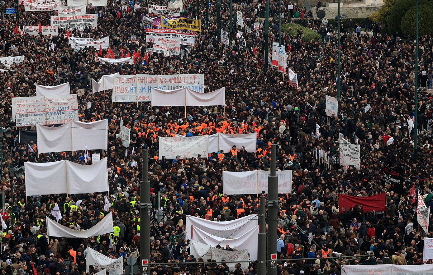
<svg viewBox="0 0 433 275">
<path fill-rule="evenodd" d="M 202 258 L 204 261 L 207 259 L 212 259 L 216 260 L 217 262 L 225 260 L 230 270 L 235 270 L 237 261 L 239 261 L 241 264 L 241 270 L 248 269 L 249 266 L 248 249 L 229 251 L 211 247 L 199 242 L 192 243 L 190 249 L 191 254 L 194 255 L 196 259 Z"/>
</svg>

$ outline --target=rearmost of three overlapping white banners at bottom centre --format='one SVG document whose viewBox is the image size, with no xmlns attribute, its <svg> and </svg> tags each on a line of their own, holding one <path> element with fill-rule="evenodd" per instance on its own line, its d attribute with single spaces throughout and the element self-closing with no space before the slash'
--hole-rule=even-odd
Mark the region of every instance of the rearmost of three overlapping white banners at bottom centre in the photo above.
<svg viewBox="0 0 433 275">
<path fill-rule="evenodd" d="M 233 221 L 211 221 L 187 215 L 185 224 L 185 237 L 187 239 L 192 239 L 193 237 L 192 226 L 200 227 L 202 230 L 215 237 L 226 239 L 230 236 L 237 238 L 246 234 L 250 228 L 259 225 L 259 218 L 257 214 L 254 214 Z"/>
</svg>

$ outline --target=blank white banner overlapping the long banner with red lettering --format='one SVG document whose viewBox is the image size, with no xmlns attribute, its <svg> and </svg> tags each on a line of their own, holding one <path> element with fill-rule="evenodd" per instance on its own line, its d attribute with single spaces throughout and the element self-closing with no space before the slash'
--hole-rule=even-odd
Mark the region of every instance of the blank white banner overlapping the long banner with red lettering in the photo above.
<svg viewBox="0 0 433 275">
<path fill-rule="evenodd" d="M 226 87 L 208 93 L 195 92 L 187 88 L 152 88 L 152 95 L 152 106 L 222 106 L 226 98 Z"/>
</svg>

